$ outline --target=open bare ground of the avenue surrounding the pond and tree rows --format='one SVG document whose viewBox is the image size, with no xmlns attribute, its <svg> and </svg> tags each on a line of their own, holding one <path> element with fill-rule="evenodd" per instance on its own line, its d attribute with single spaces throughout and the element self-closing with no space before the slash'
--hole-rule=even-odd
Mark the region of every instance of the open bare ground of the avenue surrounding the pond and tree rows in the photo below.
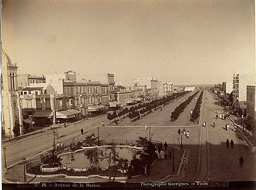
<svg viewBox="0 0 256 190">
<path fill-rule="evenodd" d="M 168 148 L 174 146 L 176 148 L 180 148 L 180 138 L 181 136 L 177 133 L 180 127 L 172 126 L 170 124 L 170 113 L 180 105 L 180 103 L 184 102 L 184 99 L 188 98 L 194 94 L 194 92 L 189 92 L 185 94 L 183 98 L 177 99 L 177 101 L 173 101 L 169 105 L 163 106 L 162 111 L 158 109 L 151 113 L 150 115 L 145 116 L 142 120 L 137 120 L 133 124 L 138 123 L 140 126 L 148 125 L 151 126 L 151 139 L 156 141 L 161 141 L 162 143 L 168 144 Z M 199 97 L 199 94 L 197 94 Z M 206 99 L 207 97 L 207 99 Z M 198 98 L 199 99 L 199 98 Z M 194 125 L 192 127 L 185 126 L 185 130 L 189 130 L 189 138 L 182 138 L 183 149 L 186 150 L 187 155 L 187 172 L 182 174 L 182 178 L 178 177 L 169 177 L 166 181 L 193 181 L 195 175 L 198 171 L 198 164 L 205 163 L 208 159 L 208 162 L 211 163 L 211 167 L 205 167 L 205 170 L 210 170 L 210 180 L 216 181 L 223 181 L 223 180 L 244 180 L 244 179 L 253 179 L 255 175 L 253 174 L 253 167 L 255 167 L 255 157 L 253 157 L 250 149 L 246 147 L 244 143 L 245 139 L 239 134 L 238 131 L 234 132 L 232 130 L 226 131 L 223 129 L 225 126 L 225 122 L 229 122 L 228 120 L 215 120 L 215 111 L 220 108 L 214 104 L 214 100 L 212 96 L 208 94 L 207 91 L 203 94 L 203 103 L 202 106 L 202 113 L 203 120 L 206 120 L 206 127 L 202 127 L 201 125 Z M 189 121 L 190 118 L 190 111 L 194 108 L 196 102 L 191 102 L 187 108 L 184 109 L 182 114 L 180 114 L 179 118 L 175 122 L 179 122 L 179 120 L 184 120 L 184 117 L 187 117 Z M 172 107 L 172 108 L 171 108 Z M 156 118 L 166 117 L 166 127 L 161 127 L 160 125 L 165 124 L 163 121 L 157 120 Z M 127 124 L 130 124 L 130 119 L 127 119 Z M 125 122 L 123 120 L 123 122 Z M 88 120 L 84 120 L 81 123 L 77 123 L 76 125 L 69 125 L 69 127 L 60 127 L 58 128 L 59 132 L 59 143 L 70 143 L 72 139 L 75 141 L 83 141 L 86 136 L 90 136 L 91 134 L 99 134 L 99 139 L 102 140 L 106 138 L 107 141 L 111 139 L 128 139 L 130 141 L 136 141 L 138 137 L 147 137 L 149 139 L 149 129 L 145 130 L 144 127 L 135 127 L 134 126 L 125 126 L 122 127 L 118 124 L 118 127 L 113 126 L 102 126 L 102 121 L 107 124 L 109 122 L 107 117 L 95 117 L 90 118 Z M 140 123 L 141 122 L 141 123 Z M 143 123 L 142 123 L 143 122 Z M 173 124 L 175 123 L 173 122 Z M 182 121 L 183 122 L 183 121 Z M 190 121 L 189 121 L 190 122 Z M 212 127 L 211 124 L 216 122 L 216 126 Z M 192 124 L 192 122 L 191 122 Z M 229 123 L 230 124 L 230 123 Z M 152 127 L 158 126 L 158 127 Z M 231 124 L 230 124 L 231 125 Z M 167 127 L 168 126 L 168 127 Z M 82 135 L 80 130 L 83 128 L 84 134 Z M 182 127 L 183 128 L 183 127 Z M 182 129 L 181 128 L 181 129 Z M 203 129 L 203 130 L 202 130 Z M 206 130 L 207 129 L 207 130 Z M 203 132 L 203 133 L 202 133 Z M 206 134 L 208 133 L 208 138 Z M 201 141 L 201 135 L 203 135 Z M 179 139 L 178 139 L 179 138 Z M 229 149 L 227 151 L 226 148 L 226 139 L 233 139 L 234 140 L 234 149 Z M 34 139 L 28 139 L 27 141 L 22 141 L 17 144 L 10 144 L 7 146 L 6 149 L 6 158 L 7 158 L 7 165 L 10 165 L 10 160 L 18 160 L 22 158 L 22 156 L 26 156 L 27 158 L 40 153 L 40 151 L 46 151 L 47 149 L 51 148 L 53 135 L 52 134 L 45 134 L 43 136 L 38 136 Z M 35 145 L 34 142 L 37 142 Z M 200 145 L 203 143 L 202 145 Z M 208 144 L 208 145 L 207 145 Z M 204 151 L 207 146 L 209 146 L 209 155 L 207 153 L 205 156 L 199 156 L 199 148 L 202 146 L 202 150 Z M 176 149 L 175 153 L 178 154 L 178 149 Z M 238 158 L 243 155 L 245 159 L 244 168 L 239 168 Z M 227 159 L 228 158 L 228 159 Z M 178 159 L 175 156 L 175 159 Z M 199 160 L 201 162 L 199 162 Z M 162 163 L 161 163 L 162 162 Z M 175 162 L 181 162 L 181 160 L 175 160 Z M 253 163 L 254 162 L 254 163 Z M 171 174 L 172 173 L 172 161 L 166 160 L 161 161 L 158 160 L 156 162 L 156 166 L 159 167 L 159 170 L 155 170 L 154 168 L 151 169 L 149 172 L 150 181 L 154 181 L 154 175 L 157 175 L 155 180 L 158 180 L 159 177 L 163 177 L 161 174 Z M 178 164 L 179 166 L 179 164 Z M 225 167 L 229 166 L 229 168 Z M 204 167 L 202 167 L 204 168 Z M 14 170 L 15 169 L 15 170 Z M 154 173 L 155 172 L 155 173 Z M 161 174 L 159 174 L 159 172 Z M 200 172 L 200 171 L 199 171 Z M 205 172 L 205 171 L 201 171 Z M 207 172 L 206 172 L 207 173 Z M 17 165 L 15 168 L 10 169 L 4 177 L 10 181 L 23 181 L 23 167 L 22 165 Z M 159 174 L 159 175 L 158 175 Z M 159 177 L 158 177 L 159 176 Z M 28 181 L 32 179 L 32 177 L 27 177 Z M 38 178 L 36 177 L 33 179 L 32 182 L 40 182 L 40 181 L 62 181 L 62 179 L 58 178 Z M 74 182 L 77 179 L 67 178 L 65 179 L 66 182 Z M 84 182 L 93 181 L 94 179 L 83 179 Z M 102 179 L 99 179 L 100 181 Z M 107 181 L 107 180 L 106 180 Z M 132 179 L 132 181 L 147 181 L 147 177 L 139 177 L 137 179 Z"/>
</svg>

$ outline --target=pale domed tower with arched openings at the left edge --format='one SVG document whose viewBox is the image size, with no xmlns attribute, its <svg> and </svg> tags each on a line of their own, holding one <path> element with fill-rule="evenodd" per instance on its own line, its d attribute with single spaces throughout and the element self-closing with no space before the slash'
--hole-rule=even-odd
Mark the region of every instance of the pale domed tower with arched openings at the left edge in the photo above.
<svg viewBox="0 0 256 190">
<path fill-rule="evenodd" d="M 24 132 L 17 70 L 17 63 L 11 63 L 10 57 L 1 49 L 2 132 L 10 137 L 13 137 L 15 126 L 20 129 L 20 134 Z"/>
</svg>

